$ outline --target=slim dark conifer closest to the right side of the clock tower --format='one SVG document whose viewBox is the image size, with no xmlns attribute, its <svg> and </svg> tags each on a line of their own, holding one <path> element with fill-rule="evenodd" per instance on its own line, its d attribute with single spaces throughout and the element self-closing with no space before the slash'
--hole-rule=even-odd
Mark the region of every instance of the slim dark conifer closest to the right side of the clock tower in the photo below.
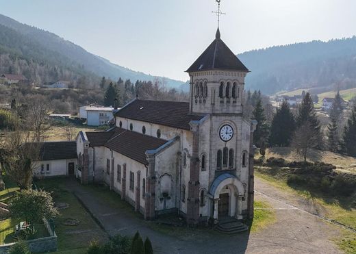
<svg viewBox="0 0 356 254">
<path fill-rule="evenodd" d="M 256 130 L 253 133 L 253 143 L 257 147 L 261 147 L 262 142 L 266 141 L 268 135 L 268 126 L 266 124 L 266 116 L 264 116 L 264 108 L 262 107 L 261 99 L 257 100 L 255 110 L 253 110 L 253 119 L 257 120 Z"/>
</svg>

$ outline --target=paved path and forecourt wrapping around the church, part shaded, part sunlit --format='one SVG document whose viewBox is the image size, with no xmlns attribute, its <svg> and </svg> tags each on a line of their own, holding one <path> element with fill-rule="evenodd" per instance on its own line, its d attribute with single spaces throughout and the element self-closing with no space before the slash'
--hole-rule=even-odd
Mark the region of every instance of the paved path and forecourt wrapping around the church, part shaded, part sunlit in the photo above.
<svg viewBox="0 0 356 254">
<path fill-rule="evenodd" d="M 256 179 L 256 199 L 270 203 L 275 209 L 277 222 L 258 233 L 241 233 L 236 236 L 223 235 L 210 229 L 180 232 L 173 228 L 171 233 L 162 233 L 153 230 L 152 223 L 138 218 L 132 212 L 118 211 L 108 206 L 90 189 L 84 190 L 74 181 L 67 188 L 75 192 L 110 235 L 133 235 L 138 230 L 142 236 L 149 236 L 155 253 L 340 253 L 331 241 L 340 236 L 338 227 L 303 212 L 299 207 L 294 209 L 259 194 L 280 192 L 273 186 L 266 186 L 259 179 Z"/>
</svg>

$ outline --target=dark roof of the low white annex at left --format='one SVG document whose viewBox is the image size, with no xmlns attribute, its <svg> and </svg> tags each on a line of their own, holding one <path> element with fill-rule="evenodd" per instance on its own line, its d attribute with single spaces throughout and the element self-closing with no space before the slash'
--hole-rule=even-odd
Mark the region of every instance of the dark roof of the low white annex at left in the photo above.
<svg viewBox="0 0 356 254">
<path fill-rule="evenodd" d="M 39 160 L 66 160 L 77 158 L 77 143 L 75 141 L 38 142 Z M 29 145 L 27 143 L 27 145 Z"/>
</svg>

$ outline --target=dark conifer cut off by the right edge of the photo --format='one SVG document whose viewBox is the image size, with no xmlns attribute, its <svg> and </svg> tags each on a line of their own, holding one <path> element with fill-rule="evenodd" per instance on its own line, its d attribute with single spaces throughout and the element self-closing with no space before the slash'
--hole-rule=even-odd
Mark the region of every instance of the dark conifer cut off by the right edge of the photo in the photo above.
<svg viewBox="0 0 356 254">
<path fill-rule="evenodd" d="M 347 120 L 347 125 L 344 129 L 344 151 L 351 156 L 356 157 L 356 106 L 351 111 L 351 116 Z"/>
</svg>

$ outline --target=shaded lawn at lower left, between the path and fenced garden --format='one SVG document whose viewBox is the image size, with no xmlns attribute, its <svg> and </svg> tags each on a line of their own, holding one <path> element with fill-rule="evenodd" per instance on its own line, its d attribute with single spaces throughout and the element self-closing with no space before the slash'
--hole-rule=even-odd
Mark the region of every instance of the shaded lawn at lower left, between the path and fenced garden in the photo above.
<svg viewBox="0 0 356 254">
<path fill-rule="evenodd" d="M 58 253 L 85 253 L 92 240 L 104 241 L 106 233 L 95 223 L 90 214 L 71 192 L 64 189 L 66 179 L 42 179 L 36 184 L 39 188 L 53 192 L 56 203 L 68 203 L 69 207 L 60 209 L 55 219 L 55 233 L 58 236 Z M 63 225 L 67 218 L 80 220 L 77 226 Z"/>
</svg>

